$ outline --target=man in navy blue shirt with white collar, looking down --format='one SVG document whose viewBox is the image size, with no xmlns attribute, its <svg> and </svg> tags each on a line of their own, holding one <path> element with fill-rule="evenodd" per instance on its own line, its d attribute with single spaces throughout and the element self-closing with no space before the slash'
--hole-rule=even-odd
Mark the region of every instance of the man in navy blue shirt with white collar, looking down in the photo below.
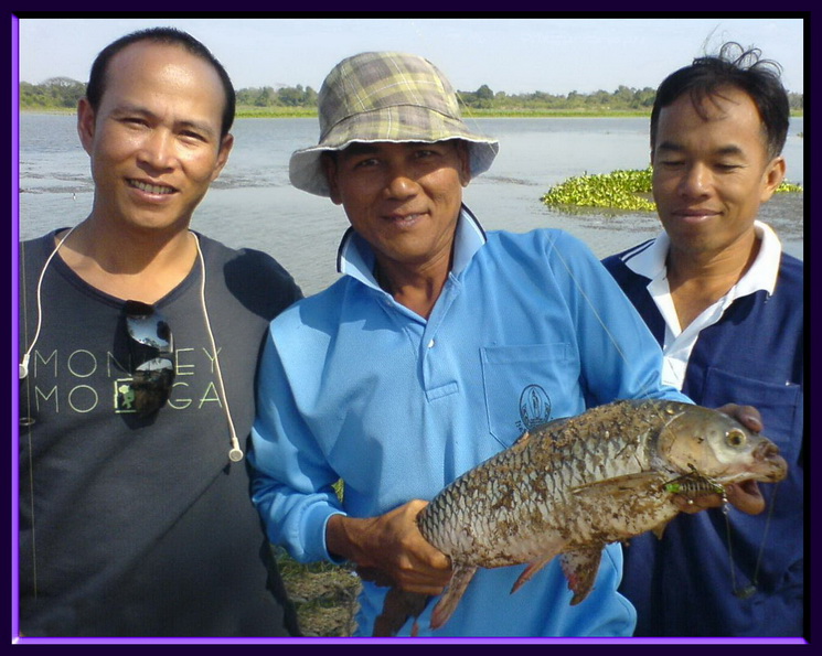
<svg viewBox="0 0 822 656">
<path fill-rule="evenodd" d="M 778 490 L 746 490 L 765 513 L 683 514 L 663 539 L 631 541 L 620 592 L 634 635 L 802 634 L 803 270 L 757 221 L 786 171 L 779 73 L 730 43 L 662 83 L 651 162 L 664 233 L 604 262 L 662 346 L 663 383 L 707 407 L 757 407 L 789 462 Z"/>
</svg>

